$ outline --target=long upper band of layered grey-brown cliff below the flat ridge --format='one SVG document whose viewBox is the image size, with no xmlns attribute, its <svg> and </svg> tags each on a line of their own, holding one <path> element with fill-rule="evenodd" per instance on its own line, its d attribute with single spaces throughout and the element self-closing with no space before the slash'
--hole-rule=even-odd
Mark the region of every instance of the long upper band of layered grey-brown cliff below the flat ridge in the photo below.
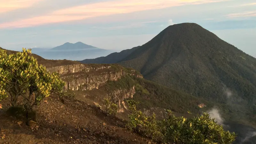
<svg viewBox="0 0 256 144">
<path fill-rule="evenodd" d="M 93 90 L 116 81 L 125 75 L 141 77 L 133 69 L 116 68 L 108 64 L 73 64 L 47 68 L 50 72 L 58 72 L 66 82 L 65 90 Z"/>
</svg>

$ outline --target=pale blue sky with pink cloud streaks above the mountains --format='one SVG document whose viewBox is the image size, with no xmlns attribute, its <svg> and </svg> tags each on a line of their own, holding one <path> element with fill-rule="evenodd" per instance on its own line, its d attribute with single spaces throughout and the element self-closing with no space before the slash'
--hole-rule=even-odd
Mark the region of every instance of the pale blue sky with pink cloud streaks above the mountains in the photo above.
<svg viewBox="0 0 256 144">
<path fill-rule="evenodd" d="M 255 0 L 0 0 L 0 46 L 20 50 L 80 41 L 120 51 L 183 22 L 256 57 Z"/>
</svg>

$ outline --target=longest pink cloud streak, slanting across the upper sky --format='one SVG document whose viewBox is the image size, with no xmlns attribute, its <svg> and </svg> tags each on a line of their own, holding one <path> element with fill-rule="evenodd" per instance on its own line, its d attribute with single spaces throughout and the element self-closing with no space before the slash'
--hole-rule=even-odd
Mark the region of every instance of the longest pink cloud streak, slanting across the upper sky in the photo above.
<svg viewBox="0 0 256 144">
<path fill-rule="evenodd" d="M 18 1 L 18 0 L 17 0 Z M 23 0 L 29 1 L 29 0 Z M 92 17 L 114 14 L 132 13 L 138 11 L 164 9 L 186 4 L 204 4 L 227 0 L 111 0 L 93 4 L 84 4 L 56 10 L 46 15 L 21 19 L 0 24 L 0 28 L 24 28 L 51 23 L 84 20 Z"/>
</svg>

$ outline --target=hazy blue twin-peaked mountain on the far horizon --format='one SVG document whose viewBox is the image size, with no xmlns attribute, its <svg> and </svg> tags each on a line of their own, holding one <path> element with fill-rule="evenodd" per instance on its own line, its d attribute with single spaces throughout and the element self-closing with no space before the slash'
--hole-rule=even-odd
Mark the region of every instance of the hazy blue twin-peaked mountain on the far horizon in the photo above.
<svg viewBox="0 0 256 144">
<path fill-rule="evenodd" d="M 91 45 L 77 42 L 75 44 L 65 43 L 54 48 L 32 48 L 35 53 L 50 60 L 84 60 L 107 56 L 115 51 L 100 49 Z"/>
</svg>

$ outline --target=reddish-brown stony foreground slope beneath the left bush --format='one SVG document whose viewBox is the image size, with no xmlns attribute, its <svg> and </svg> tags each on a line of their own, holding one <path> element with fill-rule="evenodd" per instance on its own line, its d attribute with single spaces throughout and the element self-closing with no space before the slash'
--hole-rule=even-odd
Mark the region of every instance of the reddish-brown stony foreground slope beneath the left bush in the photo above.
<svg viewBox="0 0 256 144">
<path fill-rule="evenodd" d="M 10 105 L 1 101 L 1 144 L 150 144 L 125 129 L 125 121 L 107 116 L 101 109 L 70 97 L 50 97 L 37 111 L 37 123 L 28 126 L 6 113 Z"/>
</svg>

